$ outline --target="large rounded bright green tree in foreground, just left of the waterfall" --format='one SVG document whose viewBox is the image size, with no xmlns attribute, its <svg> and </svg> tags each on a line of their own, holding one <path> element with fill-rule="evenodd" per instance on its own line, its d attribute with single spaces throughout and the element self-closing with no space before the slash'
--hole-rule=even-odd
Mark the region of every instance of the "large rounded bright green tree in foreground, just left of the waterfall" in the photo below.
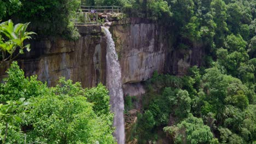
<svg viewBox="0 0 256 144">
<path fill-rule="evenodd" d="M 25 115 L 33 125 L 27 133 L 28 142 L 114 143 L 112 123 L 101 115 L 97 117 L 101 111 L 86 100 L 80 83 L 61 79 L 60 85 L 50 90 L 53 94 L 31 99 L 32 109 Z"/>
</svg>

